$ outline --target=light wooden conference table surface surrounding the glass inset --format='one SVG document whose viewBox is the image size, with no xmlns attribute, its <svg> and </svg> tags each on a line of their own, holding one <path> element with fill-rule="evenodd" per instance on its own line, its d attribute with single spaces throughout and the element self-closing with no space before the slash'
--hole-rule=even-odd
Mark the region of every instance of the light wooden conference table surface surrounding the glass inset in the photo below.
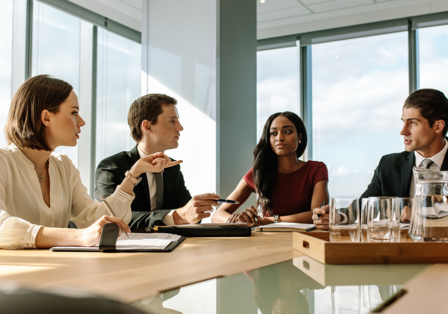
<svg viewBox="0 0 448 314">
<path fill-rule="evenodd" d="M 187 238 L 169 253 L 0 250 L 0 286 L 73 287 L 132 303 L 301 256 L 292 233 L 255 231 L 245 238 Z M 447 312 L 448 264 L 431 265 L 403 289 L 407 293 L 382 313 Z"/>
</svg>

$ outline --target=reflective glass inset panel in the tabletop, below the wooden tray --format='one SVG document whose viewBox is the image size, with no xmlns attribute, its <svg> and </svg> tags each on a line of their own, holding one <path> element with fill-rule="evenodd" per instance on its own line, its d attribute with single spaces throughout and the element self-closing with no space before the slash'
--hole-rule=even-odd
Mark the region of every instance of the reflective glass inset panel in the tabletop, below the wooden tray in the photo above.
<svg viewBox="0 0 448 314">
<path fill-rule="evenodd" d="M 325 265 L 303 256 L 132 305 L 153 314 L 367 314 L 429 266 Z"/>
</svg>

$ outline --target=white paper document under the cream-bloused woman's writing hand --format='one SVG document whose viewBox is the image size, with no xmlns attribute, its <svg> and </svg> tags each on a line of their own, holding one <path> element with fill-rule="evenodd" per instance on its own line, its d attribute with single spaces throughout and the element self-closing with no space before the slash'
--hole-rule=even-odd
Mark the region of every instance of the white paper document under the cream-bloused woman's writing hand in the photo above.
<svg viewBox="0 0 448 314">
<path fill-rule="evenodd" d="M 115 248 L 118 251 L 127 250 L 163 250 L 171 242 L 178 241 L 181 236 L 170 233 L 128 233 L 129 239 L 124 234 L 121 234 L 116 240 Z M 100 245 L 85 247 L 85 246 L 55 246 L 50 250 L 76 250 L 83 251 L 98 251 Z"/>
</svg>

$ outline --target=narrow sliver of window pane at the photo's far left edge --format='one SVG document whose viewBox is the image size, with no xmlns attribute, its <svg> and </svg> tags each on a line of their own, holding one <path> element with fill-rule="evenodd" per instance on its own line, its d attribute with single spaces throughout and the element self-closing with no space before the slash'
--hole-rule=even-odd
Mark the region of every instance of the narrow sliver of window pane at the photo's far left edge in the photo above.
<svg viewBox="0 0 448 314">
<path fill-rule="evenodd" d="M 12 1 L 0 2 L 0 147 L 6 146 L 4 124 L 11 105 Z"/>
</svg>

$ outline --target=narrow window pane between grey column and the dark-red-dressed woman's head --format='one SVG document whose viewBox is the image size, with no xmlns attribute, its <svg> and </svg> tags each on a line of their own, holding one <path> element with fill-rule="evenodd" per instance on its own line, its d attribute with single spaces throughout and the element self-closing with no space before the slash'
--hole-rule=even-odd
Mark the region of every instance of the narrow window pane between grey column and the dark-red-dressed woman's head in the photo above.
<svg viewBox="0 0 448 314">
<path fill-rule="evenodd" d="M 276 112 L 300 115 L 299 48 L 257 52 L 257 141 L 267 118 Z"/>
</svg>

